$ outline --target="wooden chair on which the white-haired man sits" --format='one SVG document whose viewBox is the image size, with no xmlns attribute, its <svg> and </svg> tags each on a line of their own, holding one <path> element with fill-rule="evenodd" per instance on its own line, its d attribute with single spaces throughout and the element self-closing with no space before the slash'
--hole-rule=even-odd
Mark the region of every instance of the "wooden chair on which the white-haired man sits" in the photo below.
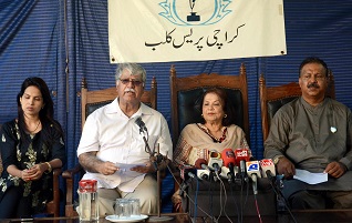
<svg viewBox="0 0 352 223">
<path fill-rule="evenodd" d="M 153 78 L 151 91 L 144 91 L 141 101 L 151 108 L 156 110 L 157 107 L 157 84 L 156 79 Z M 82 115 L 82 129 L 84 126 L 85 120 L 87 115 L 90 115 L 96 109 L 111 103 L 117 97 L 116 88 L 108 88 L 103 90 L 96 91 L 89 91 L 87 90 L 87 82 L 85 79 L 82 80 L 81 87 L 81 115 Z M 66 204 L 65 204 L 65 216 L 76 216 L 77 212 L 74 209 L 74 182 L 75 174 L 80 174 L 81 176 L 84 174 L 83 168 L 77 164 L 74 169 L 66 170 L 62 173 L 62 176 L 66 181 Z"/>
</svg>

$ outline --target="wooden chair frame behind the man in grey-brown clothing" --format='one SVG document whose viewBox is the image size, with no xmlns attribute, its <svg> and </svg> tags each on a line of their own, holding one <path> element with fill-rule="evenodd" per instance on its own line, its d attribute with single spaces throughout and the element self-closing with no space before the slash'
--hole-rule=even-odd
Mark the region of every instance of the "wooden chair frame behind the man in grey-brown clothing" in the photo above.
<svg viewBox="0 0 352 223">
<path fill-rule="evenodd" d="M 334 99 L 335 88 L 334 79 L 331 71 L 329 71 L 329 88 L 327 95 Z M 267 140 L 270 129 L 270 122 L 276 112 L 286 103 L 297 99 L 302 94 L 298 82 L 291 82 L 278 87 L 267 87 L 263 75 L 259 78 L 259 94 L 261 108 L 261 128 L 263 141 Z"/>
</svg>

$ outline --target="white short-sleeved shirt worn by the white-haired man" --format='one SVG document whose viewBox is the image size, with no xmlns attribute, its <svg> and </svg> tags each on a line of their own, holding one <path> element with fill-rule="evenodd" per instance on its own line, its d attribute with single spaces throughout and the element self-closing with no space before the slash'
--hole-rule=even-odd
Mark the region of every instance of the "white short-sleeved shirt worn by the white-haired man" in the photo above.
<svg viewBox="0 0 352 223">
<path fill-rule="evenodd" d="M 135 123 L 138 116 L 145 123 L 148 136 L 139 133 L 139 126 Z M 144 165 L 149 161 L 149 154 L 145 152 L 143 135 L 148 139 L 152 150 L 156 150 L 158 144 L 161 153 L 173 159 L 172 139 L 165 118 L 143 103 L 141 103 L 139 110 L 128 118 L 121 111 L 117 99 L 115 99 L 87 116 L 77 155 L 97 151 L 96 156 L 102 161 Z M 86 172 L 83 179 L 97 180 L 99 187 L 118 186 L 124 192 L 133 192 L 143 181 L 144 175 L 130 171 L 130 169 L 123 169 L 112 175 Z"/>
</svg>

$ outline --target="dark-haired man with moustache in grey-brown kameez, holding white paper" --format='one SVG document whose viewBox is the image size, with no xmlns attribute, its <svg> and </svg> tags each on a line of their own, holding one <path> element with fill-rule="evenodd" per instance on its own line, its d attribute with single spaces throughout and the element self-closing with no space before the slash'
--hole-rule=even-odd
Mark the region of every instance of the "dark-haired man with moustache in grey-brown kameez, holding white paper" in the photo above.
<svg viewBox="0 0 352 223">
<path fill-rule="evenodd" d="M 352 114 L 325 98 L 328 81 L 325 62 L 307 58 L 299 70 L 302 95 L 276 113 L 265 142 L 292 209 L 352 207 Z M 292 179 L 296 169 L 324 172 L 329 180 L 310 185 Z"/>
</svg>

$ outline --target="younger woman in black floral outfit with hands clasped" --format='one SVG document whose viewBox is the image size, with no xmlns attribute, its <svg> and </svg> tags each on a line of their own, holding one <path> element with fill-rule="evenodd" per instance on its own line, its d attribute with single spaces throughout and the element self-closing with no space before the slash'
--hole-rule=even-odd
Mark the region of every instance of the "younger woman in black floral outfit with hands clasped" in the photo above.
<svg viewBox="0 0 352 223">
<path fill-rule="evenodd" d="M 28 78 L 17 97 L 18 118 L 1 128 L 0 219 L 43 213 L 52 200 L 52 169 L 65 161 L 63 131 L 53 119 L 46 83 Z"/>
</svg>

